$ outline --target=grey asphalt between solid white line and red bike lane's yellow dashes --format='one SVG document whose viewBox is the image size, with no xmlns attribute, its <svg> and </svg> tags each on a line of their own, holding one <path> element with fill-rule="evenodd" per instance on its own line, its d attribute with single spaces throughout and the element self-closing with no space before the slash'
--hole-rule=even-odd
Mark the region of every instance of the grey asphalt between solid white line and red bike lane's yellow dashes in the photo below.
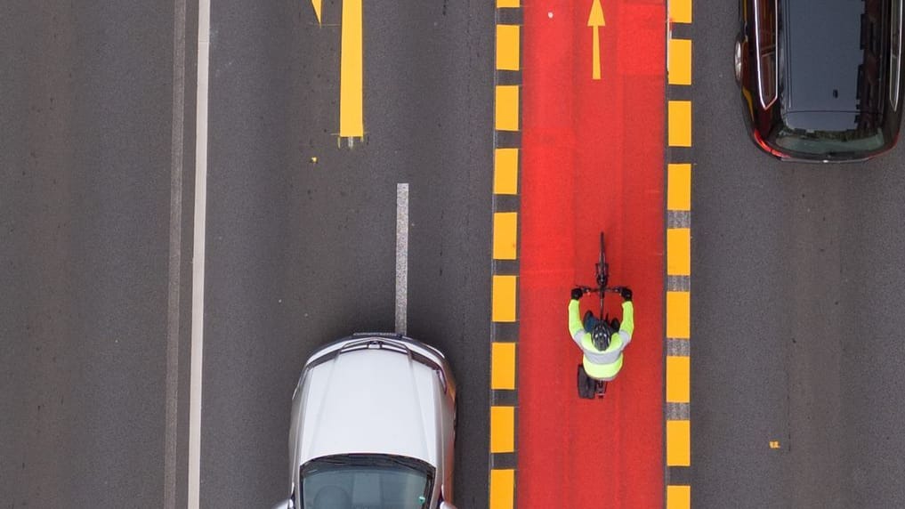
<svg viewBox="0 0 905 509">
<path fill-rule="evenodd" d="M 338 148 L 340 2 L 218 2 L 211 26 L 201 500 L 285 497 L 291 392 L 319 345 L 408 333 L 459 380 L 456 502 L 487 501 L 492 4 L 366 3 L 367 140 Z M 317 158 L 313 163 L 311 158 Z"/>
</svg>

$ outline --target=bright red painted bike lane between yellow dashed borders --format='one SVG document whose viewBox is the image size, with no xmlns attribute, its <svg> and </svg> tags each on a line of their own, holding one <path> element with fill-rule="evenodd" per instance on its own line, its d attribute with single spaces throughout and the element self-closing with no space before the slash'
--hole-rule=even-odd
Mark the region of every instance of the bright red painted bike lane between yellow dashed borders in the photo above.
<svg viewBox="0 0 905 509">
<path fill-rule="evenodd" d="M 599 81 L 591 5 L 523 11 L 520 508 L 663 506 L 665 5 L 603 2 Z M 594 284 L 601 230 L 611 285 L 633 288 L 635 331 L 605 399 L 584 400 L 568 292 Z"/>
</svg>

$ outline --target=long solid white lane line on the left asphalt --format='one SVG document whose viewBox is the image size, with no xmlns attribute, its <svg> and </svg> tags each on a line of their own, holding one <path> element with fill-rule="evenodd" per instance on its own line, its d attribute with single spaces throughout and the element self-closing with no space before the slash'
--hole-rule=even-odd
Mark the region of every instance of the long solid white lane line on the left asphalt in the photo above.
<svg viewBox="0 0 905 509">
<path fill-rule="evenodd" d="M 198 94 L 195 120 L 195 252 L 192 255 L 192 367 L 188 409 L 188 502 L 201 493 L 201 356 L 205 331 L 205 221 L 207 217 L 207 80 L 211 51 L 211 1 L 198 2 Z"/>
</svg>

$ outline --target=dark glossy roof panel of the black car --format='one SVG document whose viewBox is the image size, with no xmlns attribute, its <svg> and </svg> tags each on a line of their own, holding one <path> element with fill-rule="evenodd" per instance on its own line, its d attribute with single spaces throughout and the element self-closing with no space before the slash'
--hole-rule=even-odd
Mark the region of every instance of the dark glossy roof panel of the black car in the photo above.
<svg viewBox="0 0 905 509">
<path fill-rule="evenodd" d="M 786 59 L 784 110 L 859 110 L 864 4 L 864 0 L 779 1 L 784 27 L 780 44 Z"/>
</svg>

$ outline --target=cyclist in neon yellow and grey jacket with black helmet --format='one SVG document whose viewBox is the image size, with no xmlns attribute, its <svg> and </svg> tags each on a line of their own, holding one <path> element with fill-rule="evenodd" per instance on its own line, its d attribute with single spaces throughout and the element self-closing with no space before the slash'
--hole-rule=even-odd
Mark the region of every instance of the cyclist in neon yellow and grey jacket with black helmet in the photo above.
<svg viewBox="0 0 905 509">
<path fill-rule="evenodd" d="M 584 323 L 578 318 L 578 300 L 585 294 L 581 288 L 572 289 L 568 303 L 568 331 L 572 340 L 584 353 L 582 365 L 592 379 L 609 381 L 622 369 L 623 351 L 632 341 L 634 305 L 632 290 L 619 289 L 623 298 L 623 321 L 598 320 L 593 312 L 586 312 Z"/>
</svg>

